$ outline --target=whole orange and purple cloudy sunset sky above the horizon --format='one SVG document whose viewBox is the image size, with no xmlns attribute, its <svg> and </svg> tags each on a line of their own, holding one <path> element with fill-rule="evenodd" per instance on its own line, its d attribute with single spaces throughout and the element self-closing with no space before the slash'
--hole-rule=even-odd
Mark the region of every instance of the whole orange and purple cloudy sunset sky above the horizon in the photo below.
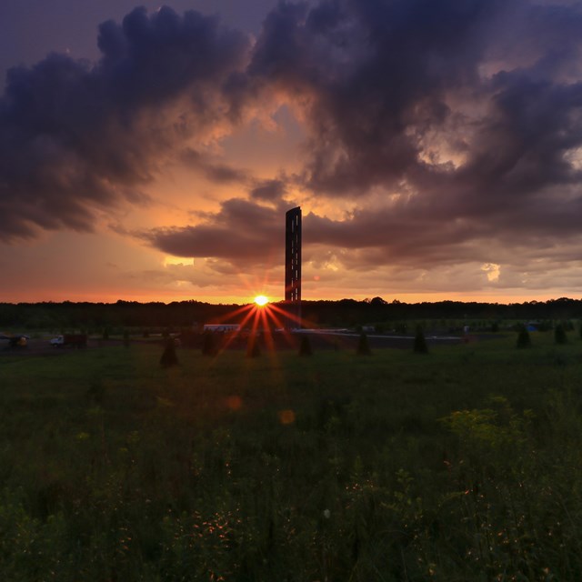
<svg viewBox="0 0 582 582">
<path fill-rule="evenodd" d="M 582 4 L 3 0 L 0 301 L 582 297 Z"/>
</svg>

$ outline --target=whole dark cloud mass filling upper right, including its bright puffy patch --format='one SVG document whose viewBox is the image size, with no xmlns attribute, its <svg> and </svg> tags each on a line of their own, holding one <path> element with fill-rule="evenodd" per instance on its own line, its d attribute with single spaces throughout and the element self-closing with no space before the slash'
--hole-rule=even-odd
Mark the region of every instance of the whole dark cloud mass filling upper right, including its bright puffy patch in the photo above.
<svg viewBox="0 0 582 582">
<path fill-rule="evenodd" d="M 580 85 L 559 72 L 579 66 L 581 18 L 525 1 L 283 2 L 249 71 L 306 104 L 321 194 L 532 192 L 579 178 L 564 153 L 582 136 Z"/>
</svg>

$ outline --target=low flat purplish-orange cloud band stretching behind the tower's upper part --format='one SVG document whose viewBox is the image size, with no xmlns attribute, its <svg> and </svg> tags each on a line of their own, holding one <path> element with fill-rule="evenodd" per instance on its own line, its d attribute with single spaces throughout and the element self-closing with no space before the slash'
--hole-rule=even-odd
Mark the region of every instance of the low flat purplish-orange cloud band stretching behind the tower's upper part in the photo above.
<svg viewBox="0 0 582 582">
<path fill-rule="evenodd" d="M 272 201 L 233 198 L 217 213 L 201 215 L 197 226 L 159 228 L 137 236 L 170 255 L 214 257 L 239 269 L 273 265 L 274 259 L 280 264 L 285 210 L 291 203 L 281 199 L 276 206 L 265 206 L 266 202 Z M 497 222 L 457 217 L 436 221 L 430 208 L 405 202 L 360 209 L 336 220 L 310 212 L 303 219 L 304 260 L 316 266 L 334 256 L 336 263 L 352 271 L 379 266 L 435 269 L 475 262 L 520 266 L 523 257 L 535 261 L 540 252 L 554 257 L 568 239 L 576 243 L 575 223 L 582 207 L 573 203 L 568 210 L 572 216 L 563 209 L 547 211 L 536 224 L 523 220 L 519 208 Z M 577 246 L 559 255 L 562 261 L 577 261 Z"/>
</svg>

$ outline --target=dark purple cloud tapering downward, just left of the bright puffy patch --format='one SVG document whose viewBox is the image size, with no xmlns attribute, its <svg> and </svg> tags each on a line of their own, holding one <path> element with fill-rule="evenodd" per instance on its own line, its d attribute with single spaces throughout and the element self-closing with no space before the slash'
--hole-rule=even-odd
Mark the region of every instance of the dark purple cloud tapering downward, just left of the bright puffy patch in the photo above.
<svg viewBox="0 0 582 582">
<path fill-rule="evenodd" d="M 306 184 L 353 196 L 419 166 L 419 136 L 451 115 L 449 91 L 476 82 L 499 3 L 475 0 L 281 3 L 251 75 L 306 100 Z"/>
</svg>

